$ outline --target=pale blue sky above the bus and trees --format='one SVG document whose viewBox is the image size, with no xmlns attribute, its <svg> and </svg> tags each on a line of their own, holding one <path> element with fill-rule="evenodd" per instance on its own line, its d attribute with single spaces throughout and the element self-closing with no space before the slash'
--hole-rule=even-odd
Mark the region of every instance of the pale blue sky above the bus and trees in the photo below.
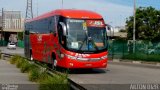
<svg viewBox="0 0 160 90">
<path fill-rule="evenodd" d="M 134 0 L 33 0 L 34 17 L 55 9 L 86 9 L 101 14 L 105 23 L 124 26 L 126 18 L 133 15 Z M 0 8 L 21 11 L 25 17 L 27 0 L 0 0 Z M 160 0 L 136 0 L 136 6 L 153 6 L 160 9 Z"/>
</svg>

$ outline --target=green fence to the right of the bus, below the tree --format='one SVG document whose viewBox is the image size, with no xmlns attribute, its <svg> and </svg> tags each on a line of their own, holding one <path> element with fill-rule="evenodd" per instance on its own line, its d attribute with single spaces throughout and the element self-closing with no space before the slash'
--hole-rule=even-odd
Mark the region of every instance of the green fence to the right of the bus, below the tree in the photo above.
<svg viewBox="0 0 160 90">
<path fill-rule="evenodd" d="M 136 41 L 133 53 L 131 40 L 110 40 L 108 51 L 110 59 L 160 61 L 160 42 Z"/>
</svg>

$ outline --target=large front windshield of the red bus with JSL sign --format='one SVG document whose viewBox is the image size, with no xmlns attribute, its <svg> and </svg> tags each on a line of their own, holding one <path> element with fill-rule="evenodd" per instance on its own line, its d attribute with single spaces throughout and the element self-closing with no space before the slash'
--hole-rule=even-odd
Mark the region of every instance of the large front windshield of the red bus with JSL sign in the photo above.
<svg viewBox="0 0 160 90">
<path fill-rule="evenodd" d="M 82 52 L 96 52 L 107 48 L 103 20 L 67 20 L 67 48 Z"/>
</svg>

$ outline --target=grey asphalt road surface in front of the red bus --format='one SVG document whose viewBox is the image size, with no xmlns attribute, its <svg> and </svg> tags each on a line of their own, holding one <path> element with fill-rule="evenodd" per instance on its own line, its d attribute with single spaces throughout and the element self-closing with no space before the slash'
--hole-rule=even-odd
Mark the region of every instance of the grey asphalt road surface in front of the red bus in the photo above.
<svg viewBox="0 0 160 90">
<path fill-rule="evenodd" d="M 160 84 L 160 68 L 109 63 L 107 69 L 75 70 L 69 77 L 89 90 L 129 90 L 129 84 Z"/>
</svg>

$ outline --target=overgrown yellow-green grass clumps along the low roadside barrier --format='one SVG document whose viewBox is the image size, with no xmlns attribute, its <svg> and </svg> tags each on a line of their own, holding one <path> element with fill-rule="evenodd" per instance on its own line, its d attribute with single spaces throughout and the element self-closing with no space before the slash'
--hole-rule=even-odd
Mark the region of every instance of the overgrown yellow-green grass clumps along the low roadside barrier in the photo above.
<svg viewBox="0 0 160 90">
<path fill-rule="evenodd" d="M 28 73 L 29 80 L 40 84 L 40 90 L 68 90 L 67 74 L 50 75 L 46 69 L 40 68 L 34 63 L 16 55 L 10 59 L 11 64 L 16 64 L 22 73 Z M 46 65 L 44 65 L 46 67 Z"/>
</svg>

